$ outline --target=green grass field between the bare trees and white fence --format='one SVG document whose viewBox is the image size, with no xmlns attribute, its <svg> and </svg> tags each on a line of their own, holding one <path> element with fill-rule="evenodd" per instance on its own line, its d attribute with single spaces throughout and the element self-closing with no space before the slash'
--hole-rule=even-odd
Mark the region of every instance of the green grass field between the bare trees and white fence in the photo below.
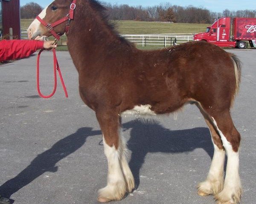
<svg viewBox="0 0 256 204">
<path fill-rule="evenodd" d="M 28 28 L 33 19 L 21 19 L 21 27 Z M 192 24 L 192 23 L 157 23 L 157 22 L 144 22 L 134 20 L 116 20 L 112 21 L 116 30 L 120 34 L 175 34 L 175 33 L 200 33 L 206 30 L 209 24 Z M 63 36 L 62 40 L 65 42 L 66 37 Z M 155 47 L 142 47 L 140 49 L 152 49 Z M 67 46 L 58 46 L 58 50 L 67 50 Z"/>
</svg>

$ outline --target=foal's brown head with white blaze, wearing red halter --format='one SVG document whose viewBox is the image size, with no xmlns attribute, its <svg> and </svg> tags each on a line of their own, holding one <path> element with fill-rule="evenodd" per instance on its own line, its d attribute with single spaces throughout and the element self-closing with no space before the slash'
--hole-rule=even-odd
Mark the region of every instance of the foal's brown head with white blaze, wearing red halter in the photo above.
<svg viewBox="0 0 256 204">
<path fill-rule="evenodd" d="M 29 39 L 42 40 L 44 37 L 64 34 L 68 21 L 73 19 L 76 8 L 74 2 L 76 0 L 55 0 L 44 8 L 28 28 Z"/>
</svg>

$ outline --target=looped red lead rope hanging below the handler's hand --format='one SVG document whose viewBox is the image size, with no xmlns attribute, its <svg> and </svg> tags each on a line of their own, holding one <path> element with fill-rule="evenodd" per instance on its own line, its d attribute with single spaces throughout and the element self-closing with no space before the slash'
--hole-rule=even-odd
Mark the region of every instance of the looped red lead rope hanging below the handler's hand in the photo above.
<svg viewBox="0 0 256 204">
<path fill-rule="evenodd" d="M 42 51 L 44 51 L 44 49 L 42 49 L 41 51 L 39 51 L 38 53 L 38 59 L 37 59 L 37 89 L 38 89 L 38 94 L 44 98 L 44 99 L 48 99 L 50 97 L 52 97 L 54 94 L 55 94 L 55 91 L 56 91 L 56 88 L 57 88 L 57 74 L 56 74 L 56 70 L 58 70 L 58 74 L 60 76 L 60 79 L 61 79 L 61 84 L 62 84 L 62 87 L 63 87 L 63 90 L 65 92 L 65 96 L 68 98 L 68 95 L 67 95 L 67 89 L 66 89 L 66 86 L 64 84 L 64 81 L 63 81 L 63 78 L 62 78 L 62 75 L 61 75 L 61 69 L 58 65 L 58 60 L 57 60 L 57 57 L 56 57 L 56 51 L 55 49 L 52 49 L 52 52 L 53 52 L 53 73 L 54 73 L 54 88 L 53 88 L 53 91 L 52 91 L 52 94 L 50 94 L 49 96 L 44 96 L 41 91 L 40 91 L 40 85 L 39 85 L 39 61 L 40 61 L 40 55 L 42 53 Z"/>
</svg>

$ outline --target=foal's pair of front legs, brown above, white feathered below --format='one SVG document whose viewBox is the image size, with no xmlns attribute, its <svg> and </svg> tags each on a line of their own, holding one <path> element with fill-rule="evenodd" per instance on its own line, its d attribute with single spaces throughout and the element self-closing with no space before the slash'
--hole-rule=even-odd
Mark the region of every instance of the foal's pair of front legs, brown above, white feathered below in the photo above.
<svg viewBox="0 0 256 204">
<path fill-rule="evenodd" d="M 104 153 L 108 159 L 107 186 L 99 190 L 98 201 L 121 200 L 134 188 L 134 178 L 125 159 L 125 142 L 119 137 L 119 116 L 114 111 L 96 112 L 102 129 Z"/>
</svg>

